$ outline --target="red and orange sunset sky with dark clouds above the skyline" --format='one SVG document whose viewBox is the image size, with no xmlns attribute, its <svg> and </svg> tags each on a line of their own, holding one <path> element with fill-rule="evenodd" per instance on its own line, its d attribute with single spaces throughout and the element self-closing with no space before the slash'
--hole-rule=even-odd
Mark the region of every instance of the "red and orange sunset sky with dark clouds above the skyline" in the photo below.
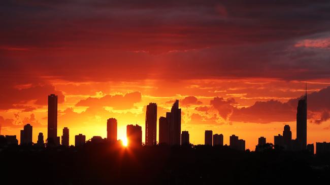
<svg viewBox="0 0 330 185">
<path fill-rule="evenodd" d="M 204 131 L 274 143 L 308 87 L 307 143 L 330 142 L 330 2 L 0 2 L 1 134 L 33 126 L 47 138 L 47 96 L 58 95 L 58 135 L 106 137 L 118 120 L 145 137 L 145 110 L 176 99 L 192 144 Z M 158 141 L 158 139 L 157 139 Z"/>
</svg>

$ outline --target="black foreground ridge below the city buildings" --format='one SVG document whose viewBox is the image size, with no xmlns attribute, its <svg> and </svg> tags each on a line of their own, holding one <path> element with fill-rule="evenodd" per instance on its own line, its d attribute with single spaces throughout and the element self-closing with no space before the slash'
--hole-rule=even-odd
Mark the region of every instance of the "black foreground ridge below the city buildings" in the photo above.
<svg viewBox="0 0 330 185">
<path fill-rule="evenodd" d="M 226 146 L 11 146 L 2 184 L 287 184 L 328 182 L 330 155 Z"/>
</svg>

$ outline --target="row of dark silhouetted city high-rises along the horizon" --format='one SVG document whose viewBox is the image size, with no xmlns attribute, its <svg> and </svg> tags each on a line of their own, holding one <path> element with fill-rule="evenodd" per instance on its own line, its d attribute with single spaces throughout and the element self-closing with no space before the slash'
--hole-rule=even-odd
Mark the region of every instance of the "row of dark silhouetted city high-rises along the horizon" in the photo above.
<svg viewBox="0 0 330 185">
<path fill-rule="evenodd" d="M 57 120 L 57 114 L 54 114 L 54 109 L 57 109 L 57 96 L 54 94 L 51 94 L 48 96 L 48 110 L 49 113 L 48 115 L 50 118 L 48 118 L 48 133 L 51 134 L 51 136 L 54 137 L 54 129 L 57 130 L 57 122 L 54 124 L 54 120 Z M 54 115 L 56 116 L 54 118 Z M 145 122 L 145 142 L 144 144 L 146 146 L 152 146 L 152 145 L 169 145 L 169 146 L 174 146 L 174 145 L 187 145 L 190 144 L 189 141 L 189 133 L 188 131 L 182 131 L 181 133 L 181 109 L 179 109 L 179 101 L 175 100 L 171 112 L 167 112 L 166 116 L 167 117 L 159 117 L 159 133 L 162 135 L 166 135 L 166 140 L 165 142 L 161 142 L 156 140 L 157 134 L 156 128 L 157 128 L 157 104 L 156 103 L 149 103 L 147 106 L 147 111 L 146 111 L 146 122 Z M 107 129 L 107 139 L 106 141 L 109 143 L 115 143 L 117 141 L 121 141 L 123 146 L 128 146 L 130 147 L 137 147 L 137 146 L 142 146 L 143 141 L 142 141 L 142 127 L 138 124 L 133 125 L 133 124 L 128 124 L 126 126 L 126 137 L 122 138 L 121 140 L 117 140 L 117 120 L 115 118 L 109 118 L 107 120 L 106 124 L 106 129 Z M 284 150 L 293 150 L 293 151 L 299 151 L 299 150 L 309 150 L 314 153 L 314 143 L 312 144 L 307 144 L 307 84 L 306 84 L 306 89 L 305 89 L 305 96 L 301 97 L 298 101 L 298 106 L 297 106 L 297 112 L 296 112 L 296 124 L 297 126 L 300 126 L 301 128 L 298 129 L 297 132 L 297 137 L 295 140 L 292 140 L 292 132 L 290 130 L 289 125 L 284 126 L 283 130 L 283 135 L 278 134 L 274 136 L 274 146 L 279 146 L 283 147 Z M 179 130 L 178 130 L 179 129 Z M 148 130 L 149 134 L 148 135 Z M 180 135 L 177 136 L 177 132 L 180 132 Z M 58 140 L 58 143 L 53 142 L 52 137 L 47 138 L 47 146 L 69 146 L 69 128 L 64 127 L 62 130 L 62 136 L 61 136 L 61 142 L 59 142 L 59 136 L 56 139 Z M 83 138 L 82 138 L 83 136 Z M 184 136 L 184 138 L 181 138 L 181 136 Z M 7 136 L 6 136 L 7 137 Z M 148 138 L 149 137 L 149 138 Z M 163 137 L 163 136 L 160 136 Z M 176 138 L 179 137 L 179 142 L 176 142 Z M 16 135 L 15 135 L 16 138 Z M 50 140 L 49 140 L 50 138 Z M 303 139 L 302 139 L 303 138 Z M 85 135 L 79 134 L 75 135 L 75 145 L 76 146 L 81 146 L 83 143 L 81 141 L 85 141 Z M 91 138 L 91 142 L 101 142 L 103 140 L 102 136 L 93 136 Z M 204 145 L 209 145 L 209 146 L 224 146 L 223 144 L 223 134 L 213 134 L 212 130 L 205 130 L 205 136 L 204 136 Z M 49 141 L 49 142 L 48 142 Z M 148 144 L 149 142 L 149 144 Z M 36 143 L 39 146 L 42 146 L 44 143 L 43 141 L 43 133 L 40 132 L 38 134 L 38 142 Z M 245 146 L 246 141 L 240 139 L 239 137 L 236 136 L 235 134 L 232 134 L 229 136 L 229 147 L 235 150 L 241 150 L 245 151 L 246 146 Z M 269 142 L 270 143 L 270 142 Z M 324 146 L 328 145 L 326 142 L 316 142 L 316 146 L 321 147 L 320 145 L 324 143 Z M 31 145 L 32 144 L 32 126 L 30 124 L 24 125 L 24 129 L 20 131 L 20 145 Z M 261 150 L 260 148 L 263 147 L 263 145 L 266 144 L 266 138 L 263 136 L 260 136 L 258 138 L 258 142 L 256 145 L 256 151 Z M 272 144 L 272 143 L 270 143 Z M 327 149 L 326 149 L 327 150 Z"/>
</svg>

